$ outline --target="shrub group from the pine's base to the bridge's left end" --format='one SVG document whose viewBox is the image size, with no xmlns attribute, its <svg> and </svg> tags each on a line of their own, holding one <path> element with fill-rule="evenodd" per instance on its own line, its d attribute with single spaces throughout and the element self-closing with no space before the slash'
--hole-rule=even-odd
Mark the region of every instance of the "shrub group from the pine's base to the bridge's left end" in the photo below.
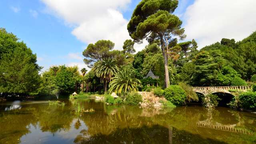
<svg viewBox="0 0 256 144">
<path fill-rule="evenodd" d="M 154 88 L 153 93 L 159 97 L 164 96 L 166 100 L 175 105 L 183 105 L 192 100 L 198 101 L 197 94 L 185 83 L 171 85 L 165 90 L 162 90 L 160 87 Z"/>
</svg>

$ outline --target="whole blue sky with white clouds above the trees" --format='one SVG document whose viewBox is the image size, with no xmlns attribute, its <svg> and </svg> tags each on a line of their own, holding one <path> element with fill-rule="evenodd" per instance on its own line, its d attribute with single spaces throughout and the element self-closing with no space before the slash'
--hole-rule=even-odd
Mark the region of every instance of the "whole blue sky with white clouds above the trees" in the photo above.
<svg viewBox="0 0 256 144">
<path fill-rule="evenodd" d="M 216 0 L 179 1 L 174 14 L 184 22 L 183 26 L 188 35 L 186 40 L 195 38 L 202 47 L 220 41 L 223 37 L 241 40 L 256 30 L 256 20 L 234 24 L 246 16 L 256 17 L 253 7 L 255 0 L 247 0 L 248 2 L 241 4 L 235 2 L 234 5 L 230 4 L 234 3 L 232 0 L 217 1 L 222 5 L 216 5 Z M 44 67 L 43 70 L 60 64 L 86 67 L 82 61 L 82 52 L 88 43 L 110 39 L 116 43 L 116 49 L 121 48 L 122 42 L 129 38 L 126 24 L 140 0 L 95 2 L 1 0 L 0 27 L 17 35 L 36 53 L 38 64 Z M 240 11 L 239 16 L 235 11 Z M 104 18 L 106 20 L 102 22 Z M 227 20 L 224 22 L 225 18 Z M 234 29 L 242 27 L 242 32 L 234 32 Z M 136 50 L 141 50 L 145 45 L 146 43 L 137 45 Z"/>
</svg>

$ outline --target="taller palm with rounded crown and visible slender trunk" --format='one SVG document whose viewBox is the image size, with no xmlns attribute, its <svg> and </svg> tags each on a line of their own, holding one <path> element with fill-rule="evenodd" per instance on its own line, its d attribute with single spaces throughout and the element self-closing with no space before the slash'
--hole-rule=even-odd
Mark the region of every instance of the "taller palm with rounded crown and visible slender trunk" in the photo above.
<svg viewBox="0 0 256 144">
<path fill-rule="evenodd" d="M 116 61 L 112 58 L 105 58 L 95 64 L 94 72 L 104 82 L 105 92 L 107 92 L 107 83 L 110 82 L 110 79 L 116 74 L 117 70 Z"/>
</svg>

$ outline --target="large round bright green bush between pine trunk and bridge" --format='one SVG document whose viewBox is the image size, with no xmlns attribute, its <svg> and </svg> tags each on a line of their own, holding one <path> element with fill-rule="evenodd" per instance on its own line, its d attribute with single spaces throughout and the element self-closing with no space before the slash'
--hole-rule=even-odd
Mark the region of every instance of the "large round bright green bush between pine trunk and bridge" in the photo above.
<svg viewBox="0 0 256 144">
<path fill-rule="evenodd" d="M 186 92 L 178 85 L 171 85 L 164 90 L 164 97 L 173 104 L 181 105 L 186 100 Z"/>
</svg>

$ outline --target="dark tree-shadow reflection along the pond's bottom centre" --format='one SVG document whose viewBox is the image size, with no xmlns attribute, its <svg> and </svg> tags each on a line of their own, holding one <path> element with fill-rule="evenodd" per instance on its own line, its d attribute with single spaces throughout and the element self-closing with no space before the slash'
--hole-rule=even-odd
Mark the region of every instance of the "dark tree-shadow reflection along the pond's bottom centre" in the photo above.
<svg viewBox="0 0 256 144">
<path fill-rule="evenodd" d="M 225 144 L 213 139 L 204 139 L 199 135 L 191 134 L 184 130 L 170 129 L 160 125 L 141 126 L 139 128 L 117 128 L 110 134 L 95 134 L 88 136 L 88 132 L 82 131 L 74 140 L 76 144 Z"/>
</svg>

